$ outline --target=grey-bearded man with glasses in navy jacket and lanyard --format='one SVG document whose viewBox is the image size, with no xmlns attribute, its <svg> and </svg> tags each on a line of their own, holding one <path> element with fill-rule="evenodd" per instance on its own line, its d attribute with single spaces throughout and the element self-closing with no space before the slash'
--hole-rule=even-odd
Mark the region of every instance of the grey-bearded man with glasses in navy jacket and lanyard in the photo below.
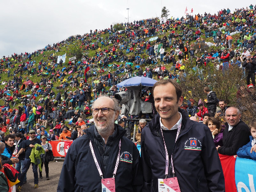
<svg viewBox="0 0 256 192">
<path fill-rule="evenodd" d="M 141 191 L 139 151 L 115 124 L 119 111 L 114 98 L 101 96 L 94 101 L 94 125 L 70 146 L 57 191 Z"/>
</svg>

